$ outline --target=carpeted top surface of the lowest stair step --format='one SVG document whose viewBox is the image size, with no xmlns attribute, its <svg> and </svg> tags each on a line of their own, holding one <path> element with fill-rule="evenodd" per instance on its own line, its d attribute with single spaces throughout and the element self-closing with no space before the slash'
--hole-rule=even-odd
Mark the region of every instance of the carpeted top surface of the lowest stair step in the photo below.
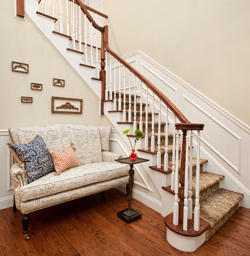
<svg viewBox="0 0 250 256">
<path fill-rule="evenodd" d="M 213 227 L 242 198 L 243 196 L 239 193 L 218 189 L 200 201 L 200 217 Z"/>
</svg>

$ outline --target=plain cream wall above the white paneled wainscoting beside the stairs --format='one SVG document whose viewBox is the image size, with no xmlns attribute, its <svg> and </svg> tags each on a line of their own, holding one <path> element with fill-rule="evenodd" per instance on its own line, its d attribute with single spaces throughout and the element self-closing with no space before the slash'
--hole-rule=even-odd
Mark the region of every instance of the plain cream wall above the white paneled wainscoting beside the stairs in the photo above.
<svg viewBox="0 0 250 256">
<path fill-rule="evenodd" d="M 250 1 L 105 0 L 109 45 L 152 58 L 250 126 Z"/>
</svg>

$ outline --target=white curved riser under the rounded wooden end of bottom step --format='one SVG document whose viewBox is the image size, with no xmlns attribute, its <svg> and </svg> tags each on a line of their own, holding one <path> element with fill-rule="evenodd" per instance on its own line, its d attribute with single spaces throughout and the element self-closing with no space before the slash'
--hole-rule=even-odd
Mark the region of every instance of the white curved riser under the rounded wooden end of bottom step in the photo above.
<svg viewBox="0 0 250 256">
<path fill-rule="evenodd" d="M 179 235 L 169 228 L 167 228 L 167 241 L 168 243 L 175 247 L 178 250 L 184 252 L 193 252 L 195 251 L 200 245 L 205 242 L 206 238 L 206 231 L 197 237 L 188 237 Z"/>
</svg>

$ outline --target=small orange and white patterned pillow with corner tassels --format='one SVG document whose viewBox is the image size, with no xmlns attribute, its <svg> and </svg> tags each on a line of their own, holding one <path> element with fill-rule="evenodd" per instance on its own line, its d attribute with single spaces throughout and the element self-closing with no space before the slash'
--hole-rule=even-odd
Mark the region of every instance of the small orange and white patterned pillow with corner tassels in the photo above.
<svg viewBox="0 0 250 256">
<path fill-rule="evenodd" d="M 80 165 L 72 147 L 69 147 L 63 153 L 56 151 L 49 151 L 49 153 L 52 156 L 54 168 L 58 175 L 68 168 L 77 167 Z"/>
</svg>

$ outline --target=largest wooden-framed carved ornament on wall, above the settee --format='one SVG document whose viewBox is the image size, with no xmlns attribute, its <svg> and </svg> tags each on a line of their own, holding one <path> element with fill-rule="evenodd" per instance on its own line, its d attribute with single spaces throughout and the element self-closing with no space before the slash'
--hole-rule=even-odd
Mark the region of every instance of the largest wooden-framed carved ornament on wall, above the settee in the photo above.
<svg viewBox="0 0 250 256">
<path fill-rule="evenodd" d="M 51 113 L 82 114 L 82 104 L 82 99 L 52 96 Z"/>
</svg>

